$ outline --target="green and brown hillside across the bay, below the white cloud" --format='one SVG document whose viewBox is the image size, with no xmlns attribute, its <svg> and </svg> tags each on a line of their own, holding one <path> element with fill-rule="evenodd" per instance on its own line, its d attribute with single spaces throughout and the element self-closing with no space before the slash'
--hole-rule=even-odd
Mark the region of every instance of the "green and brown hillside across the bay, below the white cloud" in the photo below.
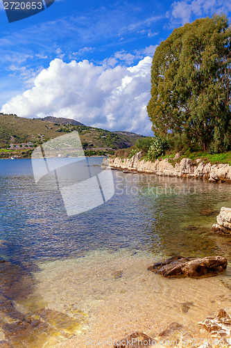
<svg viewBox="0 0 231 348">
<path fill-rule="evenodd" d="M 114 150 L 129 148 L 143 137 L 129 132 L 110 132 L 78 123 L 80 122 L 62 118 L 29 119 L 0 113 L 0 157 L 29 157 L 37 145 L 74 131 L 78 131 L 87 156 L 112 155 Z M 28 142 L 33 143 L 31 148 L 22 145 Z M 19 148 L 10 148 L 10 144 L 17 144 Z"/>
</svg>

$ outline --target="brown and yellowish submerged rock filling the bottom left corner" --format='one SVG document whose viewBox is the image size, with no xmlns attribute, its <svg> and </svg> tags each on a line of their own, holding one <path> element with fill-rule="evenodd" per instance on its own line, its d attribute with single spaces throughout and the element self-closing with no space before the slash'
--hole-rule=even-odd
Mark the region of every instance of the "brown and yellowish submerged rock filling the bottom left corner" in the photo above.
<svg viewBox="0 0 231 348">
<path fill-rule="evenodd" d="M 0 348 L 58 347 L 82 328 L 84 313 L 75 310 L 69 316 L 45 308 L 44 301 L 33 296 L 32 272 L 39 270 L 32 262 L 0 260 Z"/>
</svg>

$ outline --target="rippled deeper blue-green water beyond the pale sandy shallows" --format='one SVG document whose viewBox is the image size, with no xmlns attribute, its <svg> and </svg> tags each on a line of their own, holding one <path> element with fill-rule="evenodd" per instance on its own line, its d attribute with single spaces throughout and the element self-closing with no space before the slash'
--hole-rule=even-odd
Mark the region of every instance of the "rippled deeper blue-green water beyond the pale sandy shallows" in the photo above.
<svg viewBox="0 0 231 348">
<path fill-rule="evenodd" d="M 101 161 L 94 157 L 90 164 Z M 60 193 L 35 184 L 31 160 L 1 160 L 0 238 L 14 246 L 9 257 L 75 257 L 98 248 L 154 255 L 217 252 L 217 238 L 209 230 L 220 207 L 231 204 L 230 185 L 113 175 L 115 194 L 107 203 L 68 217 Z"/>
</svg>

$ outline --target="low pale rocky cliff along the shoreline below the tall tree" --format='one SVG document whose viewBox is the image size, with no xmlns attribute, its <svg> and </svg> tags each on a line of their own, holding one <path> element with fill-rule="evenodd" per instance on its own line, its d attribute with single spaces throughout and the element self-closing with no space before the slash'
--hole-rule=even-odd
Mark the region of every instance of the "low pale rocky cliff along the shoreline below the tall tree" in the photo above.
<svg viewBox="0 0 231 348">
<path fill-rule="evenodd" d="M 228 164 L 205 164 L 200 159 L 194 164 L 191 159 L 184 158 L 173 166 L 168 159 L 156 159 L 155 162 L 140 160 L 142 152 L 138 152 L 131 159 L 119 157 L 108 158 L 103 161 L 104 166 L 119 169 L 121 171 L 135 171 L 157 175 L 169 175 L 178 177 L 198 177 L 208 179 L 210 182 L 231 182 L 231 166 Z"/>
</svg>

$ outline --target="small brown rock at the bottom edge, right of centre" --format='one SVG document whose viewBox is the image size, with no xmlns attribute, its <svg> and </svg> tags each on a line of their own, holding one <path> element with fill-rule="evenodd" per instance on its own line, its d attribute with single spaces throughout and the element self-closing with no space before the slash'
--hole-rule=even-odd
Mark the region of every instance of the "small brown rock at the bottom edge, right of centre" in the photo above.
<svg viewBox="0 0 231 348">
<path fill-rule="evenodd" d="M 155 346 L 156 341 L 154 338 L 146 335 L 145 333 L 135 332 L 126 338 L 117 340 L 114 344 L 114 348 L 137 348 L 137 347 L 151 347 Z"/>
</svg>

